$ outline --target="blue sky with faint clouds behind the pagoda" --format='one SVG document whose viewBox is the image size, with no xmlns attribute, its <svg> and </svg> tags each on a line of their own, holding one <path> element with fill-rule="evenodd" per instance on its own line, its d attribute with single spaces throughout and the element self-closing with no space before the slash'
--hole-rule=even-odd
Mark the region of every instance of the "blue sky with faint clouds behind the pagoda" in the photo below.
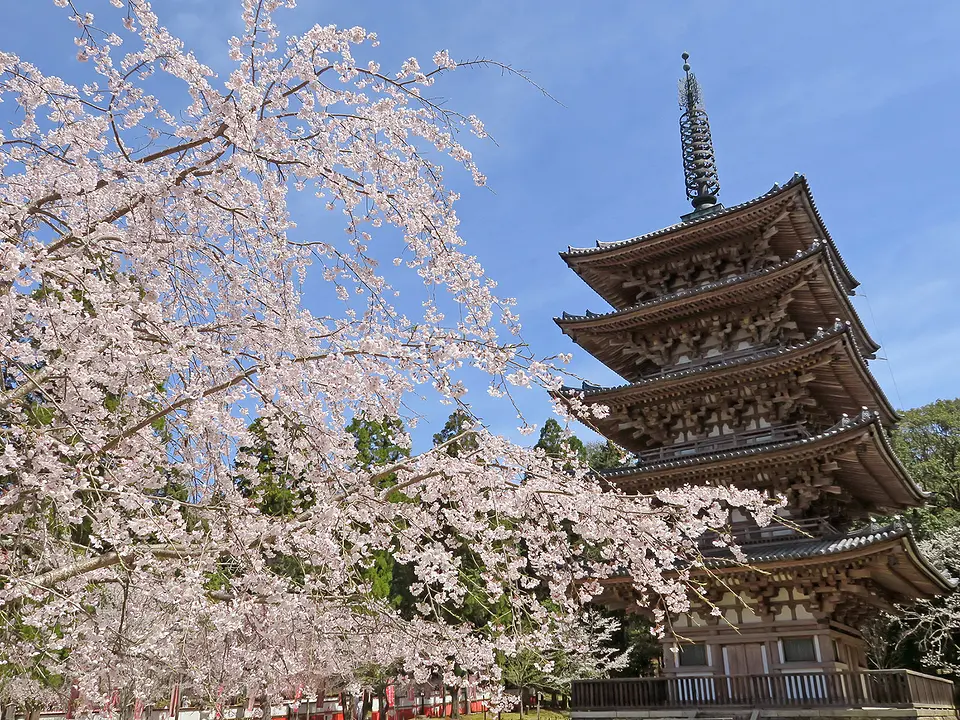
<svg viewBox="0 0 960 720">
<path fill-rule="evenodd" d="M 225 67 L 238 5 L 153 2 L 215 68 Z M 110 12 L 108 0 L 78 6 Z M 0 10 L 0 49 L 71 79 L 63 11 L 50 0 L 0 0 Z M 862 283 L 857 307 L 884 346 L 874 373 L 894 405 L 960 395 L 960 3 L 301 0 L 281 18 L 289 32 L 315 22 L 375 31 L 370 55 L 385 68 L 441 48 L 495 58 L 557 99 L 493 71 L 456 73 L 441 89 L 496 139 L 473 146 L 489 190 L 456 175 L 451 184 L 464 190 L 469 250 L 518 299 L 538 354 L 573 351 L 576 372 L 614 379 L 552 322 L 563 310 L 605 309 L 557 252 L 656 230 L 689 210 L 676 104 L 686 50 L 704 88 L 721 201 L 807 175 Z M 483 395 L 494 427 L 515 426 L 482 388 L 471 395 Z M 537 421 L 549 412 L 540 392 L 520 401 Z M 442 425 L 445 411 L 435 414 L 424 433 Z"/>
</svg>

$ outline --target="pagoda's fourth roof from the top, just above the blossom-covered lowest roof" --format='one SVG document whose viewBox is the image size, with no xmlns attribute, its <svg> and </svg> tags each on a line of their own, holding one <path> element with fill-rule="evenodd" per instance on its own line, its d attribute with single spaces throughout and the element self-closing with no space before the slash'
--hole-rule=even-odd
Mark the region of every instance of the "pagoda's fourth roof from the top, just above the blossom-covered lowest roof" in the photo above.
<svg viewBox="0 0 960 720">
<path fill-rule="evenodd" d="M 840 463 L 837 481 L 846 478 L 844 487 L 871 507 L 903 510 L 921 505 L 930 497 L 900 462 L 879 414 L 870 411 L 846 417 L 809 437 L 611 468 L 600 475 L 628 492 L 653 492 L 685 484 L 731 484 L 778 467 L 792 468 L 800 462 L 833 456 Z"/>
</svg>

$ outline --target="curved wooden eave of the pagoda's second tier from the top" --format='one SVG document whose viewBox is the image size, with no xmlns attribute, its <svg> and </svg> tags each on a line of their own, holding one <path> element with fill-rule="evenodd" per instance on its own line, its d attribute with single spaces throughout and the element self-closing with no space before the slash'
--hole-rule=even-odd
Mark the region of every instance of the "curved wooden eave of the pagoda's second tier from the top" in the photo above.
<svg viewBox="0 0 960 720">
<path fill-rule="evenodd" d="M 562 317 L 555 317 L 553 321 L 565 335 L 569 335 L 574 342 L 583 347 L 577 335 L 586 331 L 609 333 L 631 330 L 644 325 L 662 324 L 692 317 L 718 308 L 736 307 L 744 302 L 755 302 L 771 293 L 775 294 L 795 285 L 800 281 L 800 274 L 804 270 L 818 264 L 826 269 L 824 277 L 830 292 L 854 325 L 860 337 L 860 344 L 863 345 L 867 355 L 872 356 L 880 346 L 870 337 L 850 298 L 842 291 L 835 265 L 824 245 L 815 245 L 790 260 L 755 270 L 744 276 L 725 278 L 696 288 L 679 290 L 622 310 L 587 315 L 564 313 Z M 747 300 L 738 299 L 744 296 L 749 297 Z M 832 321 L 833 318 L 829 318 L 824 324 Z M 588 348 L 584 349 L 590 352 Z M 613 369 L 619 372 L 616 368 Z"/>
</svg>

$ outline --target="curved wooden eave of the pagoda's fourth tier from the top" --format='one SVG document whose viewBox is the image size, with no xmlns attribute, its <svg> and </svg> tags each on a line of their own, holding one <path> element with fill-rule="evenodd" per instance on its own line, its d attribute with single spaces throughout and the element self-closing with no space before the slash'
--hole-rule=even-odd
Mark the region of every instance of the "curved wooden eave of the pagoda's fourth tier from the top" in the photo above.
<svg viewBox="0 0 960 720">
<path fill-rule="evenodd" d="M 864 413 L 855 420 L 847 421 L 846 427 L 838 426 L 810 438 L 617 468 L 604 471 L 601 475 L 627 492 L 647 492 L 656 487 L 672 487 L 680 483 L 707 483 L 711 478 L 735 477 L 741 473 L 755 474 L 757 469 L 787 466 L 829 455 L 831 451 L 849 452 L 843 446 L 856 442 L 865 430 L 870 433 L 872 448 L 883 464 L 881 472 L 893 480 L 892 485 L 876 482 L 876 487 L 887 497 L 885 502 L 876 505 L 891 510 L 904 510 L 923 504 L 930 497 L 929 493 L 917 485 L 897 459 L 875 413 Z M 867 475 L 875 477 L 869 469 Z M 851 489 L 857 491 L 854 492 L 855 495 L 864 495 L 868 488 L 858 484 Z M 869 497 L 869 494 L 866 494 L 866 497 Z"/>
</svg>

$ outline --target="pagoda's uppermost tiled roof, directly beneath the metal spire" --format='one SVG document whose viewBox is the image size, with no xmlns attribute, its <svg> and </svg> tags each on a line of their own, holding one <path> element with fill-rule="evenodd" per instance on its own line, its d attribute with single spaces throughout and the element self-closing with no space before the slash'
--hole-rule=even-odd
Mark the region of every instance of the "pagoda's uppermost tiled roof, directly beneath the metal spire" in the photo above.
<svg viewBox="0 0 960 720">
<path fill-rule="evenodd" d="M 717 208 L 694 218 L 655 232 L 615 242 L 598 241 L 596 247 L 569 247 L 560 257 L 588 285 L 613 305 L 619 304 L 617 293 L 604 287 L 604 268 L 650 262 L 692 252 L 714 243 L 718 238 L 743 236 L 746 231 L 765 229 L 784 219 L 792 209 L 803 210 L 803 228 L 798 233 L 798 250 L 813 242 L 826 243 L 839 269 L 844 291 L 852 292 L 859 282 L 843 261 L 833 238 L 817 210 L 807 179 L 795 174 L 784 185 L 759 197 L 728 208 Z"/>
</svg>

